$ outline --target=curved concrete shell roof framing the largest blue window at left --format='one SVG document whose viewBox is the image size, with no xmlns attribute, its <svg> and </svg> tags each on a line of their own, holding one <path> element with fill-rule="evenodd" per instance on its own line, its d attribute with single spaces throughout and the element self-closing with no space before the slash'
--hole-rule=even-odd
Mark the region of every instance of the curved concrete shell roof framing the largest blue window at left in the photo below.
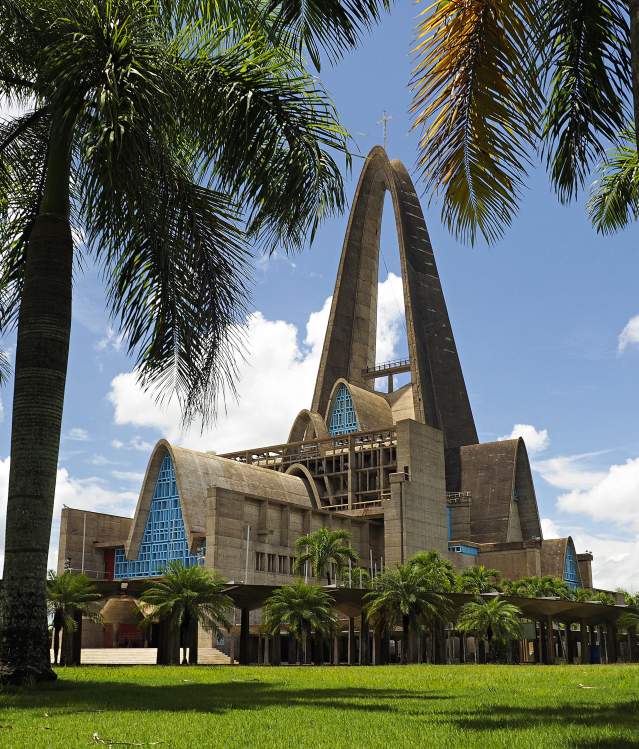
<svg viewBox="0 0 639 749">
<path fill-rule="evenodd" d="M 137 556 L 162 460 L 171 457 L 182 504 L 189 546 L 206 535 L 206 503 L 209 489 L 219 487 L 244 495 L 276 499 L 301 507 L 313 506 L 304 482 L 297 476 L 221 458 L 211 453 L 176 447 L 160 440 L 149 460 L 135 516 L 126 543 L 128 559 Z"/>
</svg>

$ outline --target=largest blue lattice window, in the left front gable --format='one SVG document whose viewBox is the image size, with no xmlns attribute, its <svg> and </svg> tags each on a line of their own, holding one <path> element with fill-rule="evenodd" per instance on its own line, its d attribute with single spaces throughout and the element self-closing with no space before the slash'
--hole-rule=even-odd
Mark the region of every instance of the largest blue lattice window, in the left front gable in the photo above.
<svg viewBox="0 0 639 749">
<path fill-rule="evenodd" d="M 126 559 L 124 549 L 116 549 L 113 576 L 116 580 L 157 577 L 169 562 L 177 560 L 185 567 L 198 564 L 198 557 L 189 552 L 173 461 L 167 455 L 158 473 L 138 558 Z"/>
</svg>

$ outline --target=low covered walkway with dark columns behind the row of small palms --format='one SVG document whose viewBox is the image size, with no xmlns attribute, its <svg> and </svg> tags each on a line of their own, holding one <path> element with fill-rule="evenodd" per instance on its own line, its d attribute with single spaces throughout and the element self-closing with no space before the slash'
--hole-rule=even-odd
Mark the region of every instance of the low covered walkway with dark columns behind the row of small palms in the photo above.
<svg viewBox="0 0 639 749">
<path fill-rule="evenodd" d="M 133 603 L 142 594 L 147 581 L 129 582 L 98 581 L 96 587 L 108 602 L 106 609 L 113 612 L 126 610 L 125 601 Z M 230 584 L 226 593 L 236 608 L 234 626 L 228 637 L 215 648 L 198 648 L 197 633 L 193 633 L 188 645 L 190 662 L 197 663 L 264 663 L 279 665 L 295 663 L 299 659 L 292 638 L 282 632 L 270 636 L 262 632 L 258 612 L 278 586 Z M 382 664 L 399 660 L 403 643 L 401 633 L 382 636 L 371 631 L 363 611 L 367 589 L 329 588 L 335 599 L 341 623 L 341 631 L 332 642 L 317 642 L 312 648 L 314 663 Z M 486 597 L 498 594 L 486 594 Z M 449 598 L 455 608 L 460 609 L 472 600 L 463 593 L 451 593 Z M 602 603 L 581 603 L 559 598 L 520 598 L 505 596 L 518 606 L 524 618 L 525 638 L 513 649 L 513 662 L 552 663 L 614 663 L 620 658 L 634 661 L 639 658 L 636 637 L 619 636 L 617 620 L 626 610 L 625 606 L 609 606 Z M 117 624 L 115 624 L 117 628 Z M 147 648 L 85 648 L 83 663 L 136 662 L 143 658 L 146 663 L 166 662 L 166 627 L 160 624 L 155 634 L 156 647 Z M 74 634 L 74 662 L 80 661 L 82 627 Z M 418 660 L 427 662 L 460 663 L 475 659 L 476 643 L 472 638 L 461 637 L 452 625 L 442 628 L 441 642 L 418 648 Z M 114 644 L 117 644 L 114 640 Z M 147 643 L 148 644 L 148 643 Z M 215 644 L 215 643 L 213 643 Z M 201 643 L 200 643 L 201 645 Z M 111 650 L 112 654 L 109 654 Z M 116 654 L 117 651 L 117 654 Z M 222 652 L 223 651 L 223 652 Z M 140 653 L 142 652 L 142 655 Z M 214 655 L 217 653 L 219 655 Z M 474 656 L 474 657 L 471 657 Z"/>
</svg>

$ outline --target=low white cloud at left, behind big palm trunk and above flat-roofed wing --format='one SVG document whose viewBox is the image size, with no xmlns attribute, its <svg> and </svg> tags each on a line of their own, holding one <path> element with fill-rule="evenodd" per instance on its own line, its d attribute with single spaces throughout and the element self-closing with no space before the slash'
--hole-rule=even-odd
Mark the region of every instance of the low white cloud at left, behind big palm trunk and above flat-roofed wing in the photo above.
<svg viewBox="0 0 639 749">
<path fill-rule="evenodd" d="M 4 561 L 5 519 L 9 488 L 9 458 L 0 458 L 0 566 Z M 137 501 L 137 493 L 112 491 L 97 477 L 73 478 L 66 468 L 58 468 L 49 568 L 55 569 L 58 560 L 58 536 L 60 533 L 60 510 L 62 505 L 95 512 L 131 516 Z"/>
</svg>

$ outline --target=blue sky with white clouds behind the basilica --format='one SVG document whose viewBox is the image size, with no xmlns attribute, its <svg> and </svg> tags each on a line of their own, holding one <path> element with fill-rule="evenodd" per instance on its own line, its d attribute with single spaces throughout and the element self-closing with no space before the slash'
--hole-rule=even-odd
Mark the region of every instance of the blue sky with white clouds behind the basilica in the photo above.
<svg viewBox="0 0 639 749">
<path fill-rule="evenodd" d="M 386 110 L 389 155 L 409 170 L 417 153 L 407 86 L 415 16 L 415 6 L 399 4 L 357 52 L 321 73 L 354 150 L 363 156 L 381 142 L 377 123 Z M 355 158 L 349 198 L 360 168 Z M 427 196 L 422 202 L 480 439 L 508 436 L 521 425 L 515 432 L 527 438 L 546 535 L 571 532 L 578 550 L 592 549 L 596 584 L 636 589 L 637 227 L 597 236 L 583 196 L 559 206 L 541 168 L 531 174 L 513 226 L 493 247 L 459 245 L 440 224 L 439 207 Z M 327 222 L 310 250 L 256 258 L 241 399 L 204 435 L 182 432 L 176 408 L 159 409 L 139 392 L 109 328 L 99 278 L 90 267 L 78 276 L 56 513 L 63 503 L 132 513 L 149 448 L 161 436 L 217 451 L 286 439 L 294 414 L 310 404 L 346 221 L 343 215 Z M 401 356 L 401 287 L 387 278 L 387 270 L 399 273 L 391 216 L 382 249 L 381 343 Z M 0 399 L 4 504 L 11 389 Z"/>
</svg>

